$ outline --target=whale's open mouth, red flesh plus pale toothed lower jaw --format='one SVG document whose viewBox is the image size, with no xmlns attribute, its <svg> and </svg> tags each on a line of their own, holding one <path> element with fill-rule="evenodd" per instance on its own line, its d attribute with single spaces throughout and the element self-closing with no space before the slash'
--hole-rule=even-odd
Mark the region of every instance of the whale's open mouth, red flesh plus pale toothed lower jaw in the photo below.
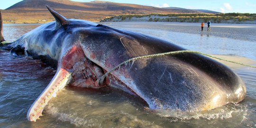
<svg viewBox="0 0 256 128">
<path fill-rule="evenodd" d="M 118 81 L 113 75 L 109 75 L 103 82 L 99 82 L 99 79 L 101 79 L 102 75 L 106 72 L 105 69 L 93 63 L 84 55 L 80 45 L 74 45 L 61 59 L 52 81 L 29 108 L 27 119 L 29 121 L 39 119 L 48 102 L 56 97 L 57 92 L 67 85 L 99 89 L 110 85 L 111 79 L 113 83 L 118 83 L 115 84 L 117 88 L 121 88 L 123 91 L 136 95 L 135 92 L 129 89 L 124 83 Z"/>
</svg>

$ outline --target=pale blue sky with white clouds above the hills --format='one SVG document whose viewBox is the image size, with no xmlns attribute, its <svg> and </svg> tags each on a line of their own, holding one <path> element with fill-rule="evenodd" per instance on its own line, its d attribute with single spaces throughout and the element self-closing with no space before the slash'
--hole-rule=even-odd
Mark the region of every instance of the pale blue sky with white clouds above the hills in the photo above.
<svg viewBox="0 0 256 128">
<path fill-rule="evenodd" d="M 0 9 L 6 9 L 22 0 L 0 0 Z M 92 0 L 72 0 L 89 2 Z M 132 3 L 154 7 L 179 7 L 185 9 L 208 9 L 222 13 L 256 13 L 256 0 L 101 0 Z"/>
</svg>

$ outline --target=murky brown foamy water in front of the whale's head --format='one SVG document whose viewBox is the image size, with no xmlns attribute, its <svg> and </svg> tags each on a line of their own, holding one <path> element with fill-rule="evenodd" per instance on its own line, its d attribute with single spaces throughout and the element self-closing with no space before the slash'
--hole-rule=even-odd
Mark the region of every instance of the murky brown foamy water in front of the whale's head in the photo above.
<svg viewBox="0 0 256 128">
<path fill-rule="evenodd" d="M 102 95 L 97 91 L 88 93 L 86 90 L 78 90 L 68 88 L 62 91 L 58 95 L 61 98 L 50 101 L 46 107 L 46 113 L 77 127 L 116 127 L 127 126 L 128 123 L 130 127 L 152 127 L 158 126 L 157 122 L 160 120 L 197 125 L 206 120 L 209 123 L 217 121 L 221 125 L 227 121 L 236 120 L 236 123 L 233 123 L 234 126 L 239 126 L 241 123 L 247 125 L 254 123 L 248 118 L 250 114 L 255 113 L 250 109 L 253 106 L 244 102 L 202 112 L 145 110 L 142 105 L 134 104 L 136 100 L 128 99 L 115 92 Z"/>
</svg>

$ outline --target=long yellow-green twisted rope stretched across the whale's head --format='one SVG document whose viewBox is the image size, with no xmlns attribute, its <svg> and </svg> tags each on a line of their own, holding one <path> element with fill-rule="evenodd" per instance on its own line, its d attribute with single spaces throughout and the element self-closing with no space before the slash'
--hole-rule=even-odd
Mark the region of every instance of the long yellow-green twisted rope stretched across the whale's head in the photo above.
<svg viewBox="0 0 256 128">
<path fill-rule="evenodd" d="M 156 56 L 163 56 L 163 55 L 175 55 L 175 54 L 182 54 L 182 53 L 194 53 L 194 54 L 201 54 L 201 55 L 206 55 L 209 56 L 211 58 L 215 58 L 215 59 L 219 59 L 219 60 L 223 60 L 229 63 L 234 63 L 234 64 L 239 64 L 239 65 L 243 65 L 243 66 L 247 66 L 247 67 L 252 67 L 252 68 L 256 68 L 256 66 L 253 65 L 247 65 L 247 64 L 243 64 L 243 63 L 238 63 L 235 61 L 230 61 L 230 60 L 226 60 L 223 58 L 219 58 L 219 57 L 215 57 L 212 55 L 208 55 L 208 54 L 204 54 L 198 51 L 192 51 L 192 50 L 181 50 L 181 51 L 173 51 L 173 52 L 166 52 L 166 53 L 159 53 L 159 54 L 151 54 L 151 55 L 142 55 L 142 56 L 137 56 L 137 57 L 133 57 L 131 59 L 128 59 L 126 61 L 124 61 L 123 63 L 118 64 L 116 67 L 112 68 L 110 71 L 108 71 L 107 73 L 105 73 L 101 78 L 99 82 L 102 82 L 104 80 L 104 78 L 112 71 L 116 70 L 118 67 L 120 67 L 123 64 L 127 64 L 130 61 L 135 61 L 138 59 L 147 59 L 147 58 L 152 58 L 152 57 L 156 57 Z"/>
</svg>

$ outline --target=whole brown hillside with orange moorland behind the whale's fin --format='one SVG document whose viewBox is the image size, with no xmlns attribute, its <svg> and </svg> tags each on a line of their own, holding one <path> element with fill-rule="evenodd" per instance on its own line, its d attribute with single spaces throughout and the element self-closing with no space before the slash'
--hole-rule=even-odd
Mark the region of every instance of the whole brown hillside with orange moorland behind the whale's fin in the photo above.
<svg viewBox="0 0 256 128">
<path fill-rule="evenodd" d="M 54 20 L 45 5 L 49 5 L 67 18 L 100 21 L 124 14 L 200 13 L 196 10 L 163 9 L 137 4 L 108 1 L 75 2 L 70 0 L 23 0 L 3 10 L 4 23 L 43 23 Z"/>
</svg>

